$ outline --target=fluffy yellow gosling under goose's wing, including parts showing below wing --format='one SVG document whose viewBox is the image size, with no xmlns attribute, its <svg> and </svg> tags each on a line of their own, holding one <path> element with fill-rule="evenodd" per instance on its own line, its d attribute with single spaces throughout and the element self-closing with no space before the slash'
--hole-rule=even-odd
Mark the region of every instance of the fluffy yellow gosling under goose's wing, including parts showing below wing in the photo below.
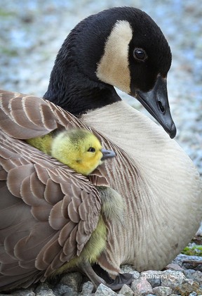
<svg viewBox="0 0 202 296">
<path fill-rule="evenodd" d="M 39 136 L 26 140 L 27 143 L 38 148 L 60 162 L 68 165 L 77 173 L 88 176 L 101 165 L 104 160 L 114 157 L 115 153 L 111 150 L 102 148 L 97 137 L 84 129 L 71 129 L 69 131 L 52 131 L 45 136 Z M 123 199 L 114 189 L 105 186 L 96 186 L 102 200 L 102 210 L 97 224 L 90 239 L 83 248 L 79 257 L 74 257 L 64 264 L 54 274 L 60 274 L 66 269 L 80 266 L 83 261 L 90 264 L 96 262 L 106 247 L 107 227 L 103 216 L 107 219 L 116 219 L 123 224 Z"/>
</svg>

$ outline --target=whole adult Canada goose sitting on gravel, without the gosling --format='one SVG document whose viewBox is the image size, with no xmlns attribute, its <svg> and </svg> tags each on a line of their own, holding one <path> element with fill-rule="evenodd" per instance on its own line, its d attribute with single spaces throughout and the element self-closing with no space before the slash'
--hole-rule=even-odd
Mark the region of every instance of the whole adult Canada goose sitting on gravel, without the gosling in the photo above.
<svg viewBox="0 0 202 296">
<path fill-rule="evenodd" d="M 146 13 L 112 8 L 69 34 L 46 100 L 1 91 L 0 290 L 44 281 L 81 255 L 102 207 L 97 185 L 114 188 L 125 208 L 124 224 L 105 221 L 107 245 L 96 259 L 105 273 L 85 261 L 77 266 L 95 286 L 130 283 L 121 264 L 162 269 L 191 240 L 202 186 L 170 139 L 176 133 L 166 90 L 170 63 L 168 43 Z M 170 137 L 121 101 L 114 86 L 137 98 Z M 23 141 L 62 127 L 93 131 L 116 152 L 113 162 L 87 178 Z"/>
</svg>

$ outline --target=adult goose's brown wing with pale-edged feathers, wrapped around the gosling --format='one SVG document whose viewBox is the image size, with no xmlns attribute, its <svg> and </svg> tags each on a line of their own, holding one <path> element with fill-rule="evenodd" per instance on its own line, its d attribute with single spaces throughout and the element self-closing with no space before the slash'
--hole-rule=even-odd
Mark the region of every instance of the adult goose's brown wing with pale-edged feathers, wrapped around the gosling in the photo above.
<svg viewBox="0 0 202 296">
<path fill-rule="evenodd" d="M 19 140 L 83 127 L 79 120 L 41 98 L 0 93 L 0 290 L 6 290 L 44 279 L 80 255 L 101 202 L 86 177 Z"/>
</svg>

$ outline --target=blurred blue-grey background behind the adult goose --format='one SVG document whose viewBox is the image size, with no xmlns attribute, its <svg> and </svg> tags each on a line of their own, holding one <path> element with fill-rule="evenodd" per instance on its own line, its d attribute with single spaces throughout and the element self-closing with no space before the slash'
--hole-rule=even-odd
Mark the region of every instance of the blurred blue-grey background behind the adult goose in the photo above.
<svg viewBox="0 0 202 296">
<path fill-rule="evenodd" d="M 142 9 L 168 39 L 173 53 L 168 96 L 176 141 L 202 174 L 202 1 L 0 0 L 0 88 L 43 96 L 69 31 L 86 16 L 113 6 Z M 147 113 L 134 98 L 119 94 Z"/>
</svg>

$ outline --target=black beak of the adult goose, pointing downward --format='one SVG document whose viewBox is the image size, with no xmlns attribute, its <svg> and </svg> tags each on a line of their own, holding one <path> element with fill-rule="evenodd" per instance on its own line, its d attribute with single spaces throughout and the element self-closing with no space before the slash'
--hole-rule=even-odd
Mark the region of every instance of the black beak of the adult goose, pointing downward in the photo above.
<svg viewBox="0 0 202 296">
<path fill-rule="evenodd" d="M 159 75 L 154 88 L 148 92 L 136 91 L 136 98 L 161 124 L 170 138 L 175 138 L 177 131 L 170 114 L 166 79 Z"/>
</svg>

